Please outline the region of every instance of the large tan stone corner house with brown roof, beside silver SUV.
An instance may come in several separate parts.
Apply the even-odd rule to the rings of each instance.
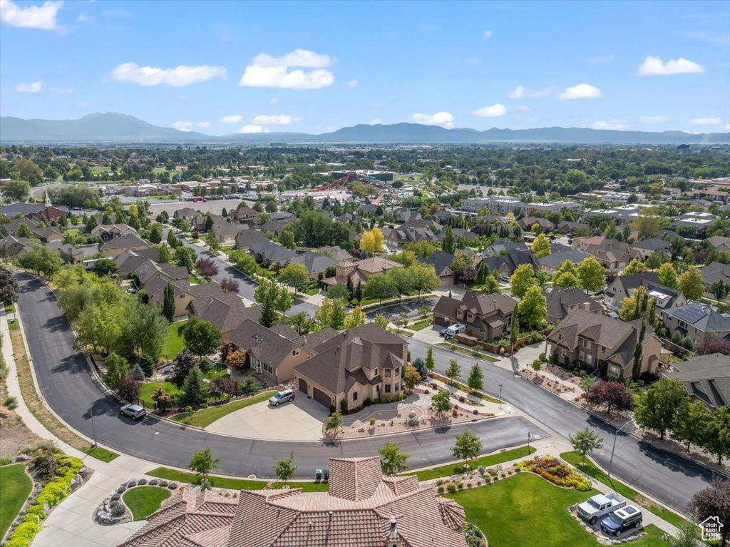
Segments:
[[[366,400],[395,399],[404,389],[408,345],[374,323],[346,330],[314,349],[315,356],[294,367],[294,388],[326,408],[353,410]]]

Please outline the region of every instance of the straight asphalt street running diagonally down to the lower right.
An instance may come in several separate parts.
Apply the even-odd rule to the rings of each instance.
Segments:
[[[412,359],[425,358],[426,343],[404,337],[409,345]],[[615,429],[603,421],[593,418],[572,403],[557,397],[550,391],[537,386],[531,380],[515,376],[509,370],[493,366],[483,360],[453,353],[438,346],[434,348],[437,372],[444,373],[450,359],[461,364],[461,380],[466,381],[469,369],[480,362],[484,373],[485,391],[499,396],[499,384],[503,384],[502,399],[522,410],[562,437],[573,435],[585,426],[590,426],[604,439],[603,448],[591,454],[604,468],[609,466],[611,446]],[[519,356],[519,353],[517,354]],[[517,359],[512,358],[513,370]],[[637,440],[631,435],[619,434],[613,457],[612,475],[629,483],[672,508],[685,511],[692,495],[712,485],[713,473],[706,467],[694,464],[680,456],[654,448],[649,443]]]

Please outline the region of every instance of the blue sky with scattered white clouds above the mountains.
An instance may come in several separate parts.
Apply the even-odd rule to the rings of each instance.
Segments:
[[[0,0],[0,112],[728,131],[727,1]]]

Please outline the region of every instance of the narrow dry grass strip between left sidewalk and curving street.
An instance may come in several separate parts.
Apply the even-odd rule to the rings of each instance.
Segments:
[[[104,449],[96,448],[85,440],[84,438],[76,435],[66,425],[55,417],[48,408],[43,404],[36,386],[33,382],[33,375],[31,372],[31,364],[28,362],[28,355],[26,354],[26,346],[23,344],[23,334],[20,329],[10,331],[10,341],[12,342],[12,354],[15,358],[15,369],[18,371],[18,383],[20,384],[20,394],[23,395],[23,400],[26,402],[26,406],[30,413],[48,430],[54,437],[64,441],[69,445],[72,445],[77,450],[82,451],[84,454],[91,454],[95,458],[101,459],[103,462],[111,462],[119,454],[110,452]]]

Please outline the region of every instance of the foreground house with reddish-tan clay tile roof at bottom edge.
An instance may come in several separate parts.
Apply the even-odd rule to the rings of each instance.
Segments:
[[[329,489],[181,489],[119,547],[467,547],[464,508],[377,456],[329,459]]]

